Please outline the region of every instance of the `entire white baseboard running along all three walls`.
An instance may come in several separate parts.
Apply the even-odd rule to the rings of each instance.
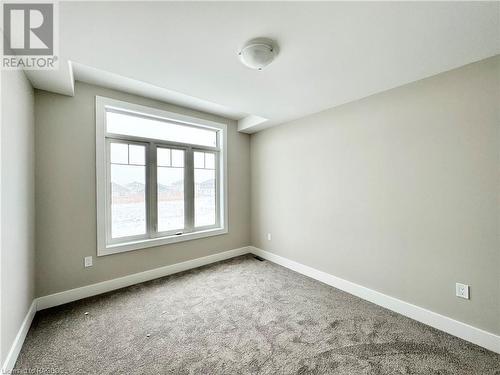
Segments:
[[[7,354],[5,362],[2,365],[1,371],[2,373],[10,373],[14,368],[17,357],[19,356],[24,340],[31,326],[31,322],[33,321],[36,311],[38,310],[47,309],[49,307],[54,307],[82,298],[106,293],[115,289],[124,288],[144,281],[168,276],[177,272],[201,267],[210,263],[247,254],[249,252],[255,255],[259,255],[262,258],[265,258],[283,267],[289,268],[295,272],[321,281],[327,285],[355,295],[359,298],[370,301],[379,306],[395,311],[399,314],[405,315],[411,319],[417,320],[431,327],[447,332],[451,335],[460,337],[461,339],[472,342],[496,353],[500,353],[500,336],[498,335],[486,332],[482,329],[448,318],[446,316],[429,311],[411,303],[401,301],[397,298],[390,297],[364,286],[330,275],[326,272],[319,271],[315,268],[303,265],[280,255],[270,253],[254,246],[248,246],[36,298],[35,300],[33,300],[26,314],[26,317],[24,318],[23,323],[19,328],[16,338],[14,339],[9,353]]]

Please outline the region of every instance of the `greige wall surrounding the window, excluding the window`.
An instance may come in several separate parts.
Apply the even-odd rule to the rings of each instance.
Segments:
[[[96,257],[95,96],[228,126],[229,233]],[[77,82],[74,97],[35,91],[36,295],[43,296],[250,243],[250,137],[234,121]],[[94,266],[83,258],[94,256]]]

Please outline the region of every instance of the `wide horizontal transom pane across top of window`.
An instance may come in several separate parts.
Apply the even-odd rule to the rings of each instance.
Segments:
[[[106,112],[108,133],[156,138],[165,141],[217,146],[217,131],[188,125],[178,125],[154,118]]]

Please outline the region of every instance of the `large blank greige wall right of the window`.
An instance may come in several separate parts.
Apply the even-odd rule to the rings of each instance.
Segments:
[[[499,100],[496,57],[252,135],[252,244],[500,334]]]

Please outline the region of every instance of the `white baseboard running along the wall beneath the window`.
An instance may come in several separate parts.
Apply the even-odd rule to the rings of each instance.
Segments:
[[[142,283],[144,281],[149,281],[157,279],[159,277],[168,276],[177,272],[204,266],[206,264],[219,262],[221,260],[247,254],[248,252],[249,252],[248,247],[246,246],[240,247],[238,249],[233,249],[213,255],[208,255],[202,258],[191,259],[185,262],[175,263],[169,266],[155,268],[149,271],[134,273],[132,275],[119,277],[117,279],[106,280],[100,283],[82,286],[80,288],[65,290],[64,292],[59,292],[39,297],[37,301],[37,307],[38,310],[48,309],[49,307],[62,305],[82,298],[92,297],[98,294],[110,292],[115,289],[124,288],[130,285]]]

